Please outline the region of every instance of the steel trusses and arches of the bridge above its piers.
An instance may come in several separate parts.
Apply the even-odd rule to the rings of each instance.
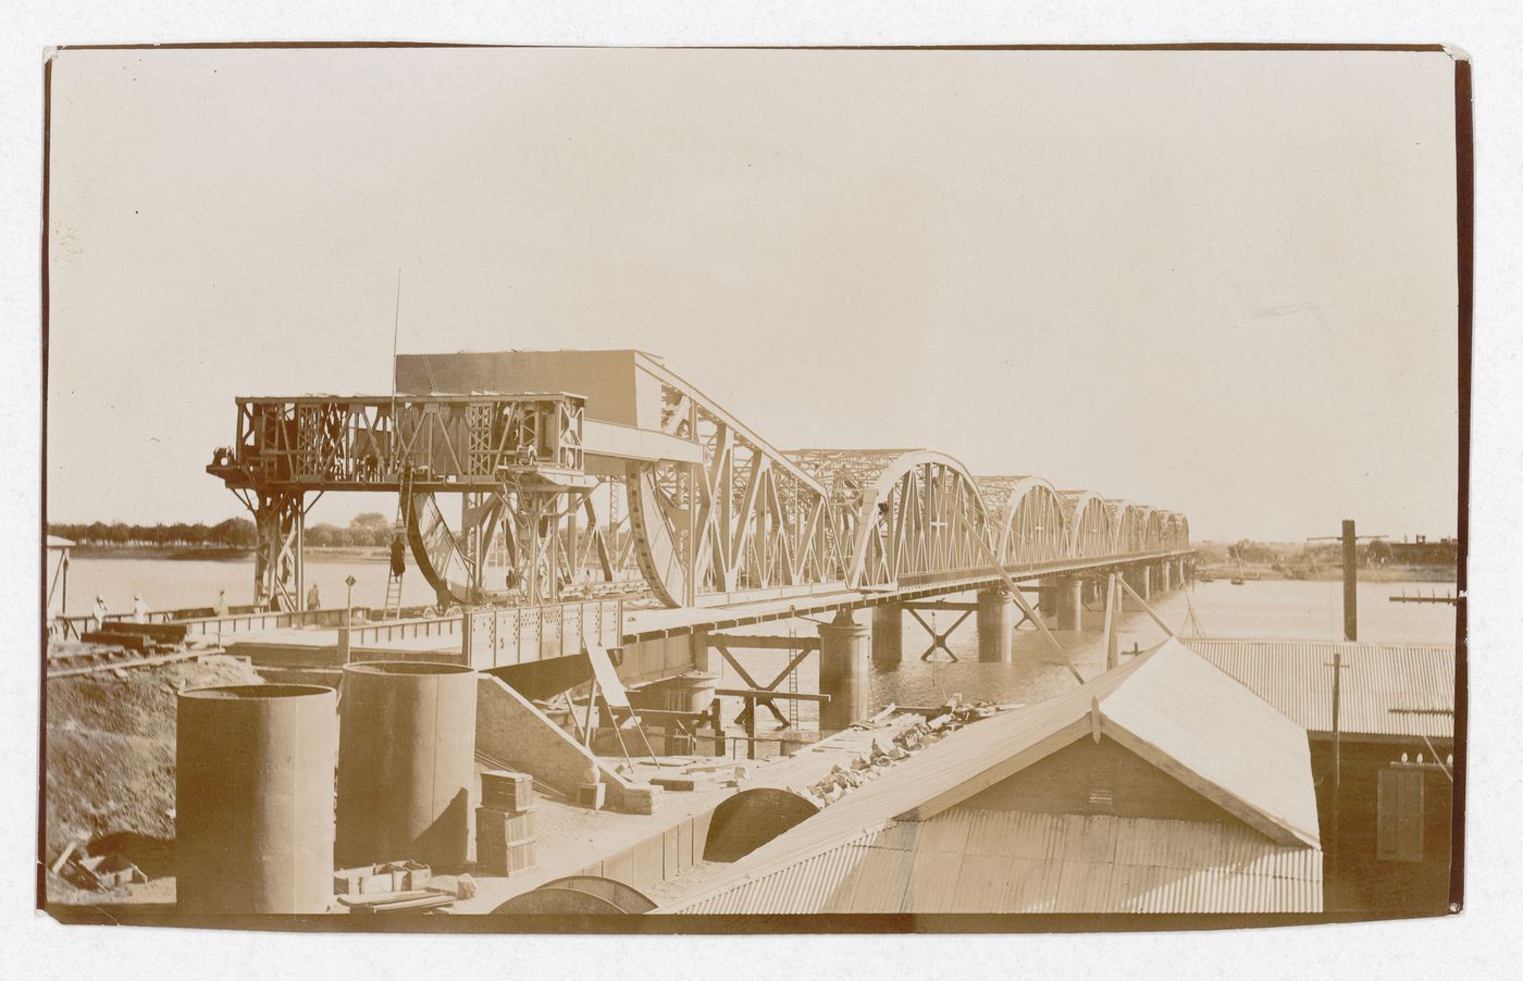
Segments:
[[[1191,554],[1182,513],[944,452],[780,451],[637,350],[402,355],[396,378],[236,399],[207,471],[254,515],[256,603],[302,609],[305,518],[330,490],[398,495],[442,606],[924,594]]]

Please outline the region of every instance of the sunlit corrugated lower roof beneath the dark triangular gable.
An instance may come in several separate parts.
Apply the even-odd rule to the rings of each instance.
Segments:
[[[1240,824],[952,807],[658,912],[1320,912],[1322,853]]]

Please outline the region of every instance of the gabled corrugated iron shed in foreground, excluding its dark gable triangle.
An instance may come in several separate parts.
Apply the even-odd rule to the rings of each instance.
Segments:
[[[959,804],[1095,733],[1237,823]],[[1304,731],[1177,641],[985,719],[780,835],[664,912],[1314,912]]]

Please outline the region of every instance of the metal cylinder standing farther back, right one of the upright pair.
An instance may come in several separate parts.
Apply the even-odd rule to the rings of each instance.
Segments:
[[[477,673],[458,664],[344,667],[338,861],[461,865],[471,841]]]

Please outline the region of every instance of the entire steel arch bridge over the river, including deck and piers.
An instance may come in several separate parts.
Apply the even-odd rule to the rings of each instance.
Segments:
[[[868,658],[902,657],[905,612],[975,615],[979,660],[1008,661],[1019,625],[1058,646],[1048,618],[1075,629],[1086,605],[1145,602],[1193,562],[1173,510],[975,475],[924,448],[777,449],[638,350],[401,355],[394,373],[394,395],[238,398],[207,471],[254,515],[254,599],[282,626],[311,612],[303,524],[329,492],[396,497],[398,539],[439,608],[267,629],[270,653],[545,678],[592,644],[638,685],[702,672],[714,650],[734,663],[731,647],[793,643],[821,652],[829,731],[868,708]],[[803,615],[830,622],[818,638],[723,634]]]

